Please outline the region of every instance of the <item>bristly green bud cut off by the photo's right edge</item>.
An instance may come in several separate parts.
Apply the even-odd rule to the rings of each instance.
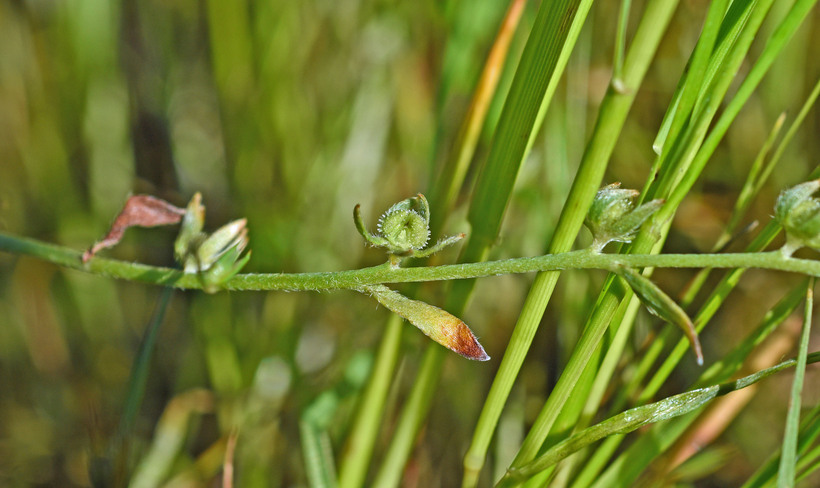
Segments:
[[[775,218],[786,231],[786,244],[780,249],[791,256],[801,247],[820,250],[820,201],[813,198],[820,180],[807,181],[784,190],[774,206]]]

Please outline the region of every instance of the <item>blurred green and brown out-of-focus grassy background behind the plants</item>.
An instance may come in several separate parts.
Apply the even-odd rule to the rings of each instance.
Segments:
[[[519,174],[493,257],[539,254],[548,242],[611,73],[617,2],[598,3],[543,136]],[[706,3],[682,2],[608,181],[643,185],[652,140]],[[785,11],[788,3],[774,8]],[[383,255],[356,234],[353,206],[362,205],[374,228],[391,203],[429,188],[506,7],[500,1],[2,1],[0,229],[84,249],[105,233],[129,194],[184,205],[200,191],[209,228],[248,218],[253,256],[246,271],[377,264]],[[479,161],[534,9],[527,7],[513,42]],[[711,247],[760,141],[780,112],[799,109],[820,73],[818,22],[815,11],[744,109],[715,156],[720,164],[681,208],[670,251]],[[767,221],[779,189],[802,181],[816,164],[810,155],[820,154],[818,133],[815,110],[760,198],[756,218]],[[462,193],[468,192],[469,184]],[[465,210],[459,206],[451,216],[448,234],[469,231]],[[105,254],[170,266],[174,237],[174,229],[131,230]],[[689,277],[658,275],[673,294]],[[602,279],[580,272],[562,279],[544,319],[557,325],[536,338],[511,415],[526,422],[537,413]],[[453,486],[460,479],[461,456],[530,280],[479,282],[464,319],[494,360],[448,358],[407,486]],[[704,338],[706,350],[727,349],[772,305],[778,296],[772,290],[794,282],[749,273],[742,301],[730,301],[720,329]],[[422,296],[440,303],[445,287],[425,286]],[[94,473],[115,469],[110,446],[160,293],[0,255],[0,485],[89,486],[89,465]],[[298,420],[318,412],[334,450],[341,450],[386,317],[352,292],[175,292],[128,463],[141,466],[157,452],[151,443],[158,434],[175,432],[177,449],[168,451],[162,479],[214,486],[235,431],[238,486],[305,485]],[[635,338],[636,347],[641,341]],[[404,343],[380,445],[427,340],[407,327]],[[669,391],[690,380],[677,378]],[[816,385],[817,375],[808,381]],[[739,453],[731,464],[739,476],[765,459],[782,433],[780,400],[788,382],[762,388],[776,390],[769,396],[778,401],[753,402],[751,415],[771,418],[772,430],[750,439],[741,417],[722,440]],[[816,402],[817,391],[807,388],[806,401]],[[520,436],[502,423],[494,451],[499,466]]]

